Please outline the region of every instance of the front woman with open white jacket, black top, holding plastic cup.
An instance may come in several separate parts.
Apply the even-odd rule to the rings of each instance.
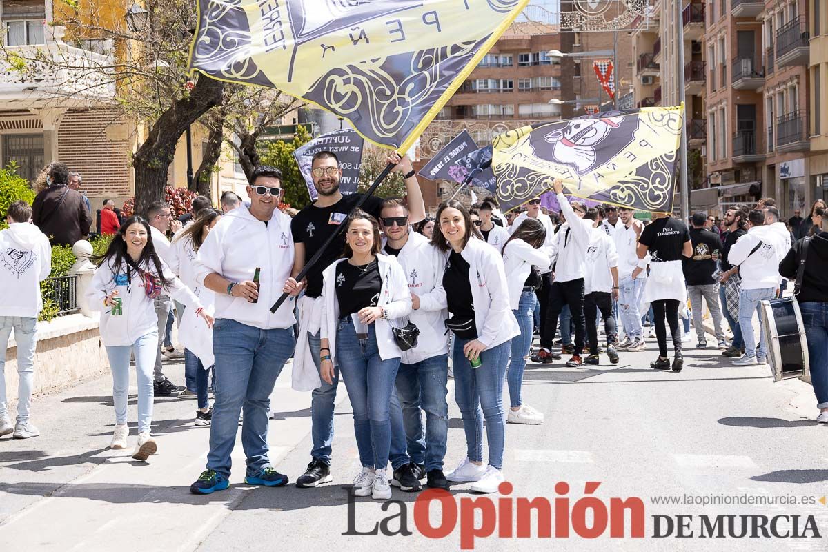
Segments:
[[[339,367],[354,409],[363,466],[354,479],[354,495],[388,500],[389,404],[402,357],[391,320],[411,312],[412,298],[397,259],[379,254],[377,221],[357,209],[345,224],[345,258],[322,275],[320,375],[330,384]]]

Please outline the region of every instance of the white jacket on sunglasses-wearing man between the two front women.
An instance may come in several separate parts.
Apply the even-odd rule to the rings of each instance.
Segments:
[[[503,228],[501,228],[503,229]],[[508,234],[507,234],[508,235]],[[387,240],[383,240],[383,247]],[[445,255],[421,233],[409,229],[408,240],[397,255],[405,273],[408,290],[420,298],[420,308],[408,318],[420,329],[417,346],[402,352],[403,364],[416,364],[449,352],[445,334],[445,290],[442,288]]]

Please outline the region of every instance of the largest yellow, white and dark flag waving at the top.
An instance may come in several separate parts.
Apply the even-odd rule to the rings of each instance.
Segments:
[[[406,151],[529,0],[198,0],[190,69]]]

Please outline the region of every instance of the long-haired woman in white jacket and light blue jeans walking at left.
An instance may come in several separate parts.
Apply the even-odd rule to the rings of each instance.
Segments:
[[[115,431],[109,447],[127,447],[129,358],[133,353],[138,384],[138,442],[132,458],[143,461],[155,454],[157,448],[150,435],[152,370],[158,349],[158,317],[153,297],[163,288],[174,299],[197,309],[208,326],[213,324],[213,319],[201,310],[192,291],[158,258],[149,223],[142,217],[124,221],[107,251],[92,260],[98,269],[86,291],[86,299],[91,309],[102,311],[101,340],[113,375]]]

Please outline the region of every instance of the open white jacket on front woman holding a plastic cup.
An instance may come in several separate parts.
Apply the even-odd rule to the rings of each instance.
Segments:
[[[488,247],[488,246],[487,246]],[[322,272],[322,326],[320,338],[328,340],[330,358],[334,366],[339,366],[336,358],[336,329],[339,325],[339,300],[336,297],[336,266],[340,262],[348,262],[348,259],[330,263],[330,266]],[[383,285],[379,290],[379,301],[377,306],[388,311],[388,319],[402,319],[412,311],[412,296],[408,292],[406,274],[397,259],[390,255],[377,255],[379,277]],[[392,325],[388,319],[378,319],[375,324],[377,334],[377,348],[379,358],[402,358],[402,351],[394,342]]]

